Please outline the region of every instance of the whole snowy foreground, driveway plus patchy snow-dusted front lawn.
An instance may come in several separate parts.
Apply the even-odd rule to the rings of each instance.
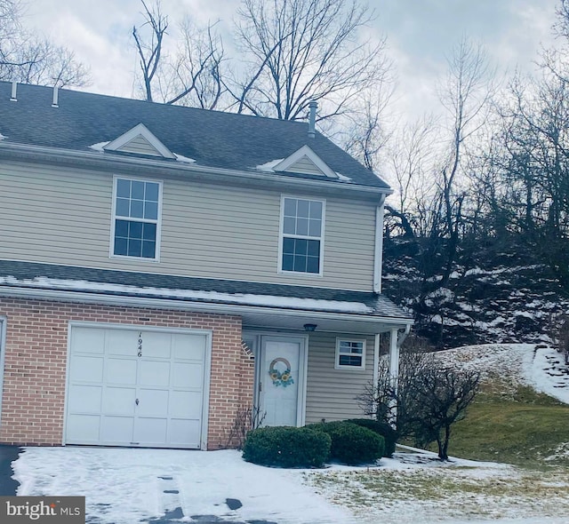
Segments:
[[[93,524],[148,522],[175,507],[188,522],[196,515],[277,524],[569,519],[565,474],[459,459],[441,463],[429,453],[396,453],[375,467],[284,470],[245,463],[233,450],[28,448],[14,470],[20,496],[85,496]],[[243,507],[229,510],[227,498]]]

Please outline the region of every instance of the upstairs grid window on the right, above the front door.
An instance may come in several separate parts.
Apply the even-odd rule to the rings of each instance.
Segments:
[[[279,270],[322,274],[325,201],[284,196]]]

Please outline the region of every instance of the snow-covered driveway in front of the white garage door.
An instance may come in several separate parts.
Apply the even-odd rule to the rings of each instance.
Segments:
[[[28,448],[13,464],[19,496],[85,496],[87,516],[100,524],[135,524],[176,507],[228,521],[353,521],[304,486],[301,470],[249,464],[233,450]],[[243,507],[229,510],[227,498]]]

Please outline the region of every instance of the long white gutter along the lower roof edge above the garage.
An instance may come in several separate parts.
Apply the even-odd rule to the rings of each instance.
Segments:
[[[184,311],[195,311],[214,314],[268,314],[296,317],[317,317],[332,321],[351,321],[365,323],[381,323],[389,328],[401,329],[404,324],[409,324],[409,319],[397,319],[394,317],[373,316],[354,313],[332,313],[327,311],[309,311],[300,309],[287,309],[272,306],[244,306],[193,302],[188,300],[176,300],[172,298],[147,298],[147,297],[125,297],[119,295],[105,295],[101,293],[88,293],[84,291],[68,290],[35,290],[18,287],[0,286],[0,297],[12,298],[36,298],[45,300],[60,300],[64,302],[83,302],[86,304],[100,304],[105,306],[131,306],[131,307],[152,307],[155,309],[174,309]]]

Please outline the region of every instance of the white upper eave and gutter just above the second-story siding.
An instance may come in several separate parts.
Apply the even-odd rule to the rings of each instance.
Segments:
[[[248,187],[302,189],[320,195],[351,195],[354,198],[377,201],[393,190],[389,187],[362,186],[332,179],[307,179],[284,176],[282,173],[239,171],[213,168],[198,163],[181,163],[175,160],[155,160],[128,155],[105,155],[95,151],[74,151],[56,147],[28,146],[0,142],[0,156],[7,160],[44,163],[59,167],[83,167],[95,171],[120,172],[124,174],[156,174],[172,178],[196,179],[208,183],[235,183]]]

